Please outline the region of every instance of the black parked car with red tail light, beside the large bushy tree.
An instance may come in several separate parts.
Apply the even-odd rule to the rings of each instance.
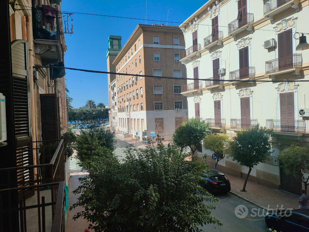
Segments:
[[[230,192],[231,191],[231,183],[228,177],[221,171],[216,169],[211,169],[211,173],[209,174],[206,183],[200,182],[200,186],[205,188],[210,193],[221,193],[221,192]]]

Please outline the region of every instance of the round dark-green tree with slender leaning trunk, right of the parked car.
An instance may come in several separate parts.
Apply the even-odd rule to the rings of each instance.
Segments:
[[[253,166],[264,161],[272,154],[272,136],[272,130],[260,127],[259,124],[257,124],[251,129],[241,130],[231,141],[229,153],[232,159],[243,166],[249,167],[241,191],[244,192],[246,189],[247,180]]]

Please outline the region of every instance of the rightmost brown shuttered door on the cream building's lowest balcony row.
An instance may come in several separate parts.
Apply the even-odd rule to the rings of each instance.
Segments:
[[[280,93],[280,119],[282,132],[295,131],[294,92]]]

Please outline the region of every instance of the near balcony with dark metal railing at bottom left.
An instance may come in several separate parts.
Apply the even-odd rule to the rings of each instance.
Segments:
[[[19,225],[20,231],[37,226],[63,232],[65,227],[65,155],[63,140],[39,141],[40,164],[0,169],[0,199],[16,196],[17,207],[0,206],[0,231]],[[17,174],[17,182],[12,177]],[[35,193],[36,192],[36,193]],[[9,201],[9,200],[8,200]],[[10,201],[13,202],[13,201]],[[6,220],[7,219],[7,220]],[[34,224],[36,222],[36,225]],[[4,226],[3,226],[4,225]]]

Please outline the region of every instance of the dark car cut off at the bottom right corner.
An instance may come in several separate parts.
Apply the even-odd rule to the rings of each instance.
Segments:
[[[268,228],[280,232],[309,232],[309,209],[288,210],[279,214],[268,213],[265,222]]]

